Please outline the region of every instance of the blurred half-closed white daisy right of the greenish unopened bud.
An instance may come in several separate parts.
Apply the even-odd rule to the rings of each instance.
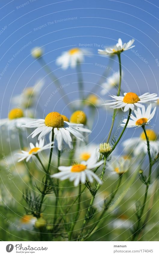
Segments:
[[[112,156],[111,160],[106,163],[106,169],[114,171],[117,174],[123,174],[130,168],[130,159],[124,156]]]

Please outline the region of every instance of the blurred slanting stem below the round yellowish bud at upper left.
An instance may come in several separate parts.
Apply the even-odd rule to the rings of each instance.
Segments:
[[[38,62],[40,63],[40,65],[44,69],[44,71],[49,75],[50,79],[57,86],[58,91],[59,91],[59,93],[61,95],[61,98],[63,99],[63,101],[66,104],[66,106],[68,106],[70,108],[70,110],[71,110],[71,106],[69,105],[70,100],[69,100],[67,94],[63,93],[64,92],[64,88],[61,88],[61,84],[60,84],[58,78],[55,76],[53,71],[50,69],[50,67],[47,65],[47,63],[44,61],[43,57],[38,58]]]

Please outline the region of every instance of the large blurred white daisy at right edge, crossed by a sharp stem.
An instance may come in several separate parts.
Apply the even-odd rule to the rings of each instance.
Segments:
[[[149,138],[151,155],[157,154],[159,152],[159,140],[157,140],[157,134],[151,129],[147,129],[146,134],[147,137]],[[135,156],[138,156],[142,152],[147,154],[147,141],[145,133],[142,132],[140,137],[133,137],[127,139],[126,141],[124,141],[123,147],[126,151],[133,151],[133,154]]]

